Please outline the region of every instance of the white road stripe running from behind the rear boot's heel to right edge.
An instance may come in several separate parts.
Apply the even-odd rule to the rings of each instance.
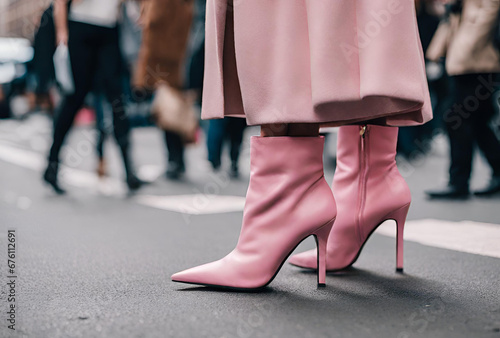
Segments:
[[[395,223],[385,222],[376,233],[395,237]],[[500,225],[498,224],[436,219],[408,221],[405,225],[404,239],[443,249],[500,258]]]

